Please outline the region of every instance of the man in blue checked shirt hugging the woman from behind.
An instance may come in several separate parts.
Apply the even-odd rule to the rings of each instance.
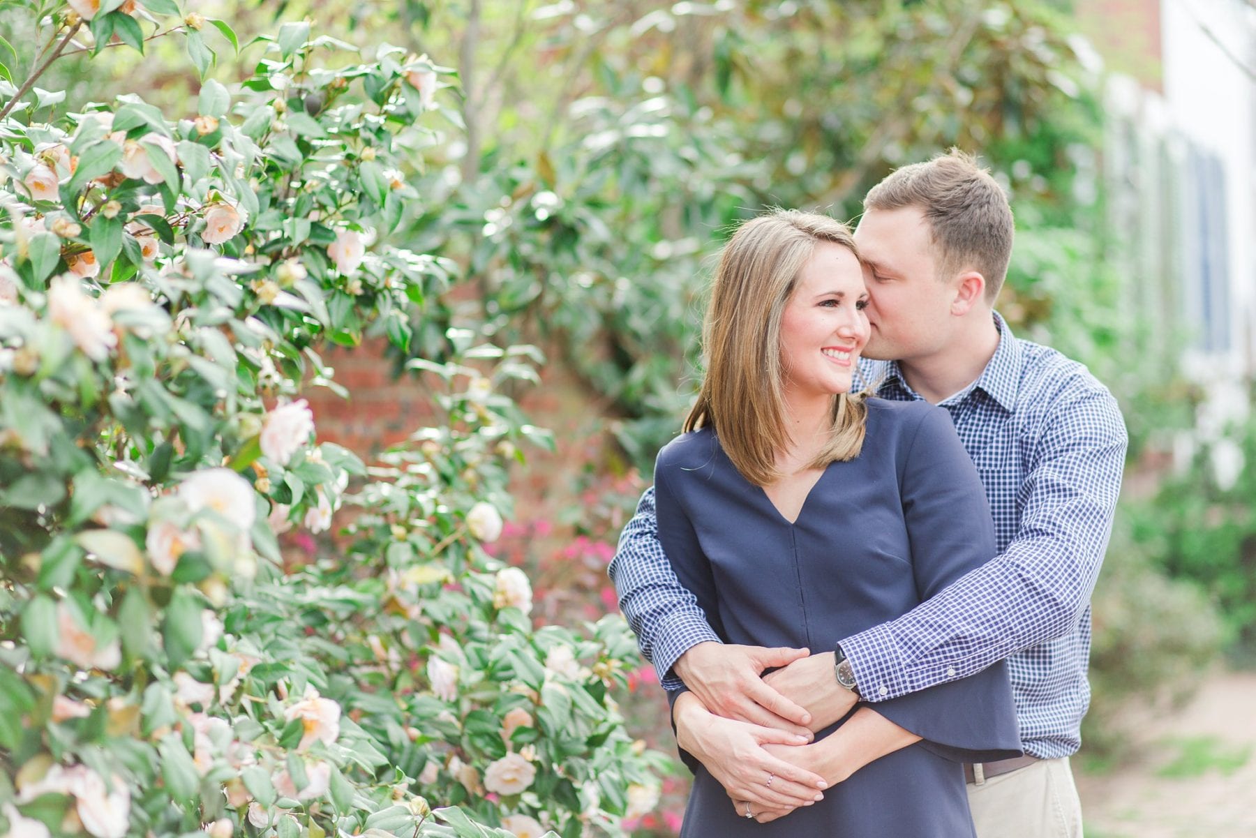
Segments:
[[[620,607],[664,687],[683,685],[712,712],[772,727],[818,729],[857,701],[875,707],[1007,658],[1026,756],[967,768],[977,834],[1081,838],[1068,758],[1089,704],[1089,601],[1120,490],[1120,411],[1083,366],[1017,339],[995,313],[1012,215],[971,157],[901,168],[864,210],[864,354],[883,359],[863,362],[864,378],[884,398],[947,408],[985,485],[999,555],[815,655],[725,646],[676,580],[647,490],[610,565]],[[762,678],[772,667],[782,668]]]

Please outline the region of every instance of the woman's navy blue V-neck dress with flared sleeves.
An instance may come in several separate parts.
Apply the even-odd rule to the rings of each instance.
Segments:
[[[728,643],[830,650],[996,552],[977,471],[950,415],[926,402],[868,400],[863,452],[825,469],[794,524],[711,428],[659,452],[654,491],[663,549]],[[1020,754],[1005,665],[873,707],[922,740],[766,824],[739,817],[682,751],[695,771],[682,838],[973,837],[962,763]]]

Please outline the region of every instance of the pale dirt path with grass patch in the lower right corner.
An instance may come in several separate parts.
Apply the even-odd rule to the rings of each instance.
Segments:
[[[1256,672],[1210,678],[1134,753],[1108,774],[1079,771],[1086,838],[1256,838]]]

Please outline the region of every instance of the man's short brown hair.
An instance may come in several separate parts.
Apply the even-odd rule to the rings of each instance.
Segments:
[[[927,163],[894,170],[864,199],[864,210],[908,206],[919,207],[929,222],[938,279],[976,270],[986,278],[986,299],[993,303],[1007,276],[1015,224],[990,171],[952,148]]]

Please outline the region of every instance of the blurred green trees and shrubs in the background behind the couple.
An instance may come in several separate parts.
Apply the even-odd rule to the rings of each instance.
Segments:
[[[1132,436],[1095,594],[1088,741],[1113,746],[1128,701],[1181,697],[1223,647],[1256,647],[1256,477],[1222,487],[1210,445],[1169,467],[1205,393],[1172,373],[1171,340],[1128,314],[1129,265],[1104,221],[1100,67],[1071,0],[201,5],[240,35],[241,60],[221,52],[212,73],[225,83],[252,70],[254,35],[305,16],[359,46],[386,34],[455,72],[437,98],[445,141],[414,155],[421,197],[392,239],[450,260],[452,320],[545,347],[605,417],[613,443],[584,446],[585,480],[555,513],[585,543],[613,543],[642,485],[634,470],[648,475],[678,430],[708,259],[730,225],[767,205],[852,219],[894,166],[980,152],[1017,217],[1000,309],[1021,337],[1089,364]],[[31,60],[23,33],[5,36]],[[134,90],[176,116],[197,89],[176,49],[117,50],[90,80],[67,62],[46,80],[70,108]],[[440,340],[421,337],[448,323],[413,325],[409,356],[440,361]],[[409,356],[396,356],[398,374]],[[1252,461],[1256,431],[1231,436]],[[590,498],[595,514],[571,511]],[[570,572],[570,554],[538,555],[534,535],[524,526],[516,560],[548,567],[560,602],[604,593],[597,574]]]

